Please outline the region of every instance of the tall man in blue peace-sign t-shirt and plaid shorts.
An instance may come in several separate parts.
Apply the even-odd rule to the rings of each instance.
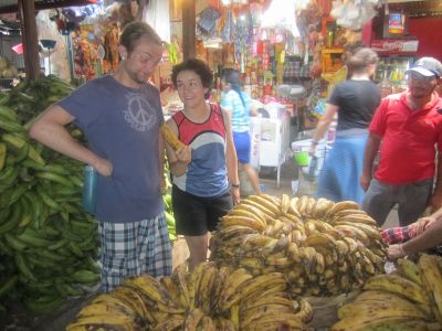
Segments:
[[[148,24],[133,22],[118,50],[122,62],[113,75],[81,86],[30,129],[32,138],[99,174],[95,216],[106,292],[128,276],[171,274],[161,197],[164,117],[159,93],[147,83],[161,60],[162,42]],[[88,148],[65,129],[72,121],[86,135]]]

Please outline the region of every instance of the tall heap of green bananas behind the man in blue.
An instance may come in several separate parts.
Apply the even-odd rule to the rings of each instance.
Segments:
[[[49,88],[51,103],[61,85]],[[49,312],[98,281],[97,224],[81,207],[83,166],[31,141],[28,113],[6,106],[22,89],[0,99],[0,258],[13,266],[0,274],[0,303]]]

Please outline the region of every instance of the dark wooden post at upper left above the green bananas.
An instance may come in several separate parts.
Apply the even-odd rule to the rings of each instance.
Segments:
[[[35,81],[41,73],[34,0],[19,0],[18,4],[27,79]]]

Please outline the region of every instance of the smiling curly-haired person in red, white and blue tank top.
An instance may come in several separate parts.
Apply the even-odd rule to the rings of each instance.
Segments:
[[[212,72],[200,60],[188,60],[172,70],[185,108],[167,125],[186,147],[166,148],[177,233],[185,235],[189,247],[189,270],[207,260],[209,232],[240,201],[231,124],[218,105],[206,100],[212,81]]]

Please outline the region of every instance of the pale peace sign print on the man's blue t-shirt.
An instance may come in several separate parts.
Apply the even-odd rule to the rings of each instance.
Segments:
[[[157,113],[141,93],[128,93],[125,120],[137,131],[147,131],[157,122]]]

